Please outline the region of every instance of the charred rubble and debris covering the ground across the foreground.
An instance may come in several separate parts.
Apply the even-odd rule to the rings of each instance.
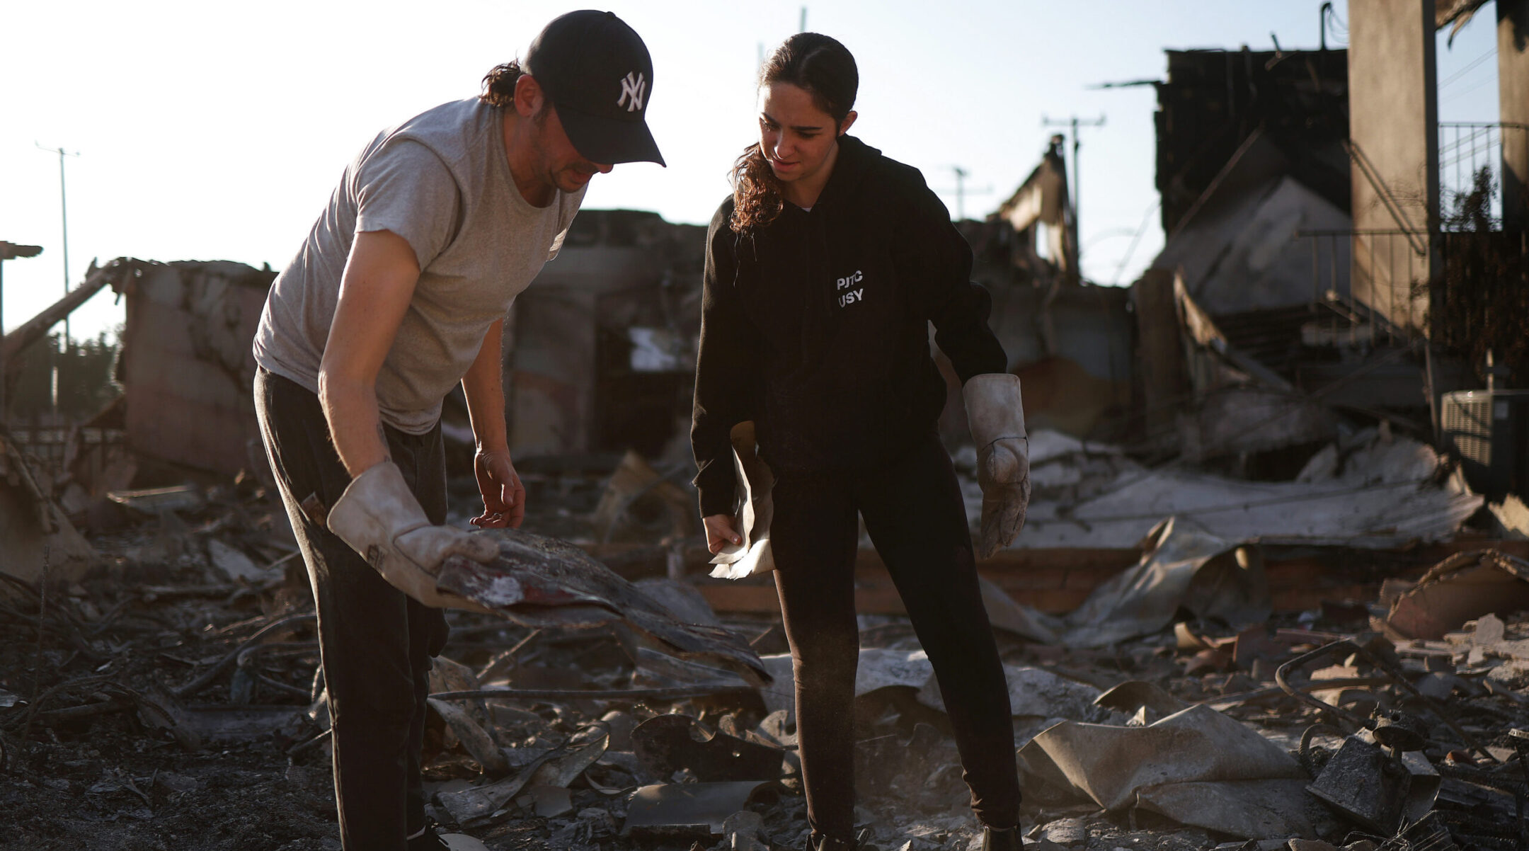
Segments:
[[[596,508],[625,487],[613,473],[543,467],[528,525],[579,546],[494,533],[494,588],[457,586],[502,611],[450,614],[430,813],[491,848],[798,848],[777,617],[708,602],[772,591],[705,579],[693,548],[671,574],[671,546],[601,543]],[[280,505],[252,478],[107,502],[118,522],[92,531],[92,571],[0,580],[12,831],[43,846],[336,846],[313,609]],[[648,491],[630,510],[664,505]],[[1427,563],[1430,549],[1372,553],[1306,606],[1272,603],[1300,563],[1290,548],[1174,520],[1141,545],[1072,612],[1031,606],[1046,598],[1001,559],[983,568],[1031,843],[1515,846],[1529,750],[1518,543]],[[1368,595],[1344,594],[1356,588]],[[898,614],[861,615],[861,646],[862,846],[968,848],[980,828],[928,658]]]

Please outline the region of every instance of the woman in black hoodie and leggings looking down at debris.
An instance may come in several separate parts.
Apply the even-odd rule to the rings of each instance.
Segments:
[[[856,513],[934,664],[983,848],[1018,848],[1008,686],[936,432],[946,392],[928,323],[963,381],[985,554],[1014,539],[1029,497],[1018,378],[945,207],[916,168],[846,135],[858,83],[850,52],[812,32],[760,70],[760,141],[706,237],[691,427],[706,540],[740,542],[729,432],[754,421],[775,474],[769,536],[812,851],[853,848]]]

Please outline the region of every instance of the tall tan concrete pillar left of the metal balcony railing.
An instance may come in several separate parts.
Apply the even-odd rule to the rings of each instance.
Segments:
[[[1423,329],[1439,210],[1434,0],[1349,2],[1349,138],[1353,145],[1353,295]],[[1373,234],[1364,231],[1407,231]],[[1372,263],[1398,248],[1417,262]],[[1417,280],[1422,279],[1422,280]]]

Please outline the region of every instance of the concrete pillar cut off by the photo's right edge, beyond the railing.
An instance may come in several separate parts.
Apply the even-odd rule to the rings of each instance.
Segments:
[[[1497,92],[1503,122],[1503,227],[1524,230],[1529,227],[1529,0],[1497,0]]]

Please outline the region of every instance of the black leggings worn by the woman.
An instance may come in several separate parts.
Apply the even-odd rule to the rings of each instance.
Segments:
[[[775,588],[797,675],[812,828],[850,839],[855,823],[856,511],[934,664],[972,810],[985,825],[1012,827],[1020,785],[1009,689],[982,606],[960,485],[939,439],[930,435],[870,473],[781,474],[774,500]]]

